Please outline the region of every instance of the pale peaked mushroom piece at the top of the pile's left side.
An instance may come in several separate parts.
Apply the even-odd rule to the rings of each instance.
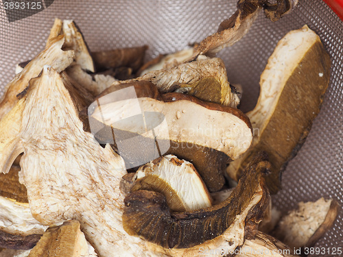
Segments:
[[[94,64],[91,54],[88,51],[86,41],[82,36],[80,29],[74,21],[55,19],[53,27],[51,27],[47,45],[51,43],[56,36],[63,35],[65,42],[63,45],[64,50],[73,50],[75,53],[75,62],[79,64],[82,69],[94,72]]]

